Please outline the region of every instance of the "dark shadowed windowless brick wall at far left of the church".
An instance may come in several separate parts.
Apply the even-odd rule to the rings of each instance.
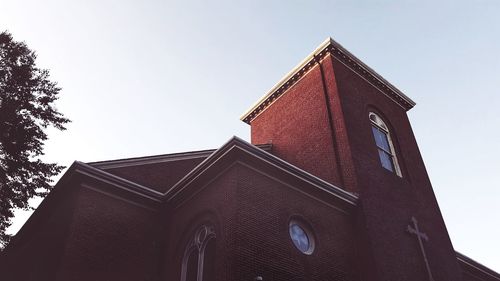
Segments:
[[[9,245],[1,280],[157,280],[155,212],[78,176],[56,189]]]

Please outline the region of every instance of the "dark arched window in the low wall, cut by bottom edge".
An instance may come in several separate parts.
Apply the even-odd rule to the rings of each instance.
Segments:
[[[215,280],[215,230],[202,225],[189,240],[182,258],[181,281]]]

